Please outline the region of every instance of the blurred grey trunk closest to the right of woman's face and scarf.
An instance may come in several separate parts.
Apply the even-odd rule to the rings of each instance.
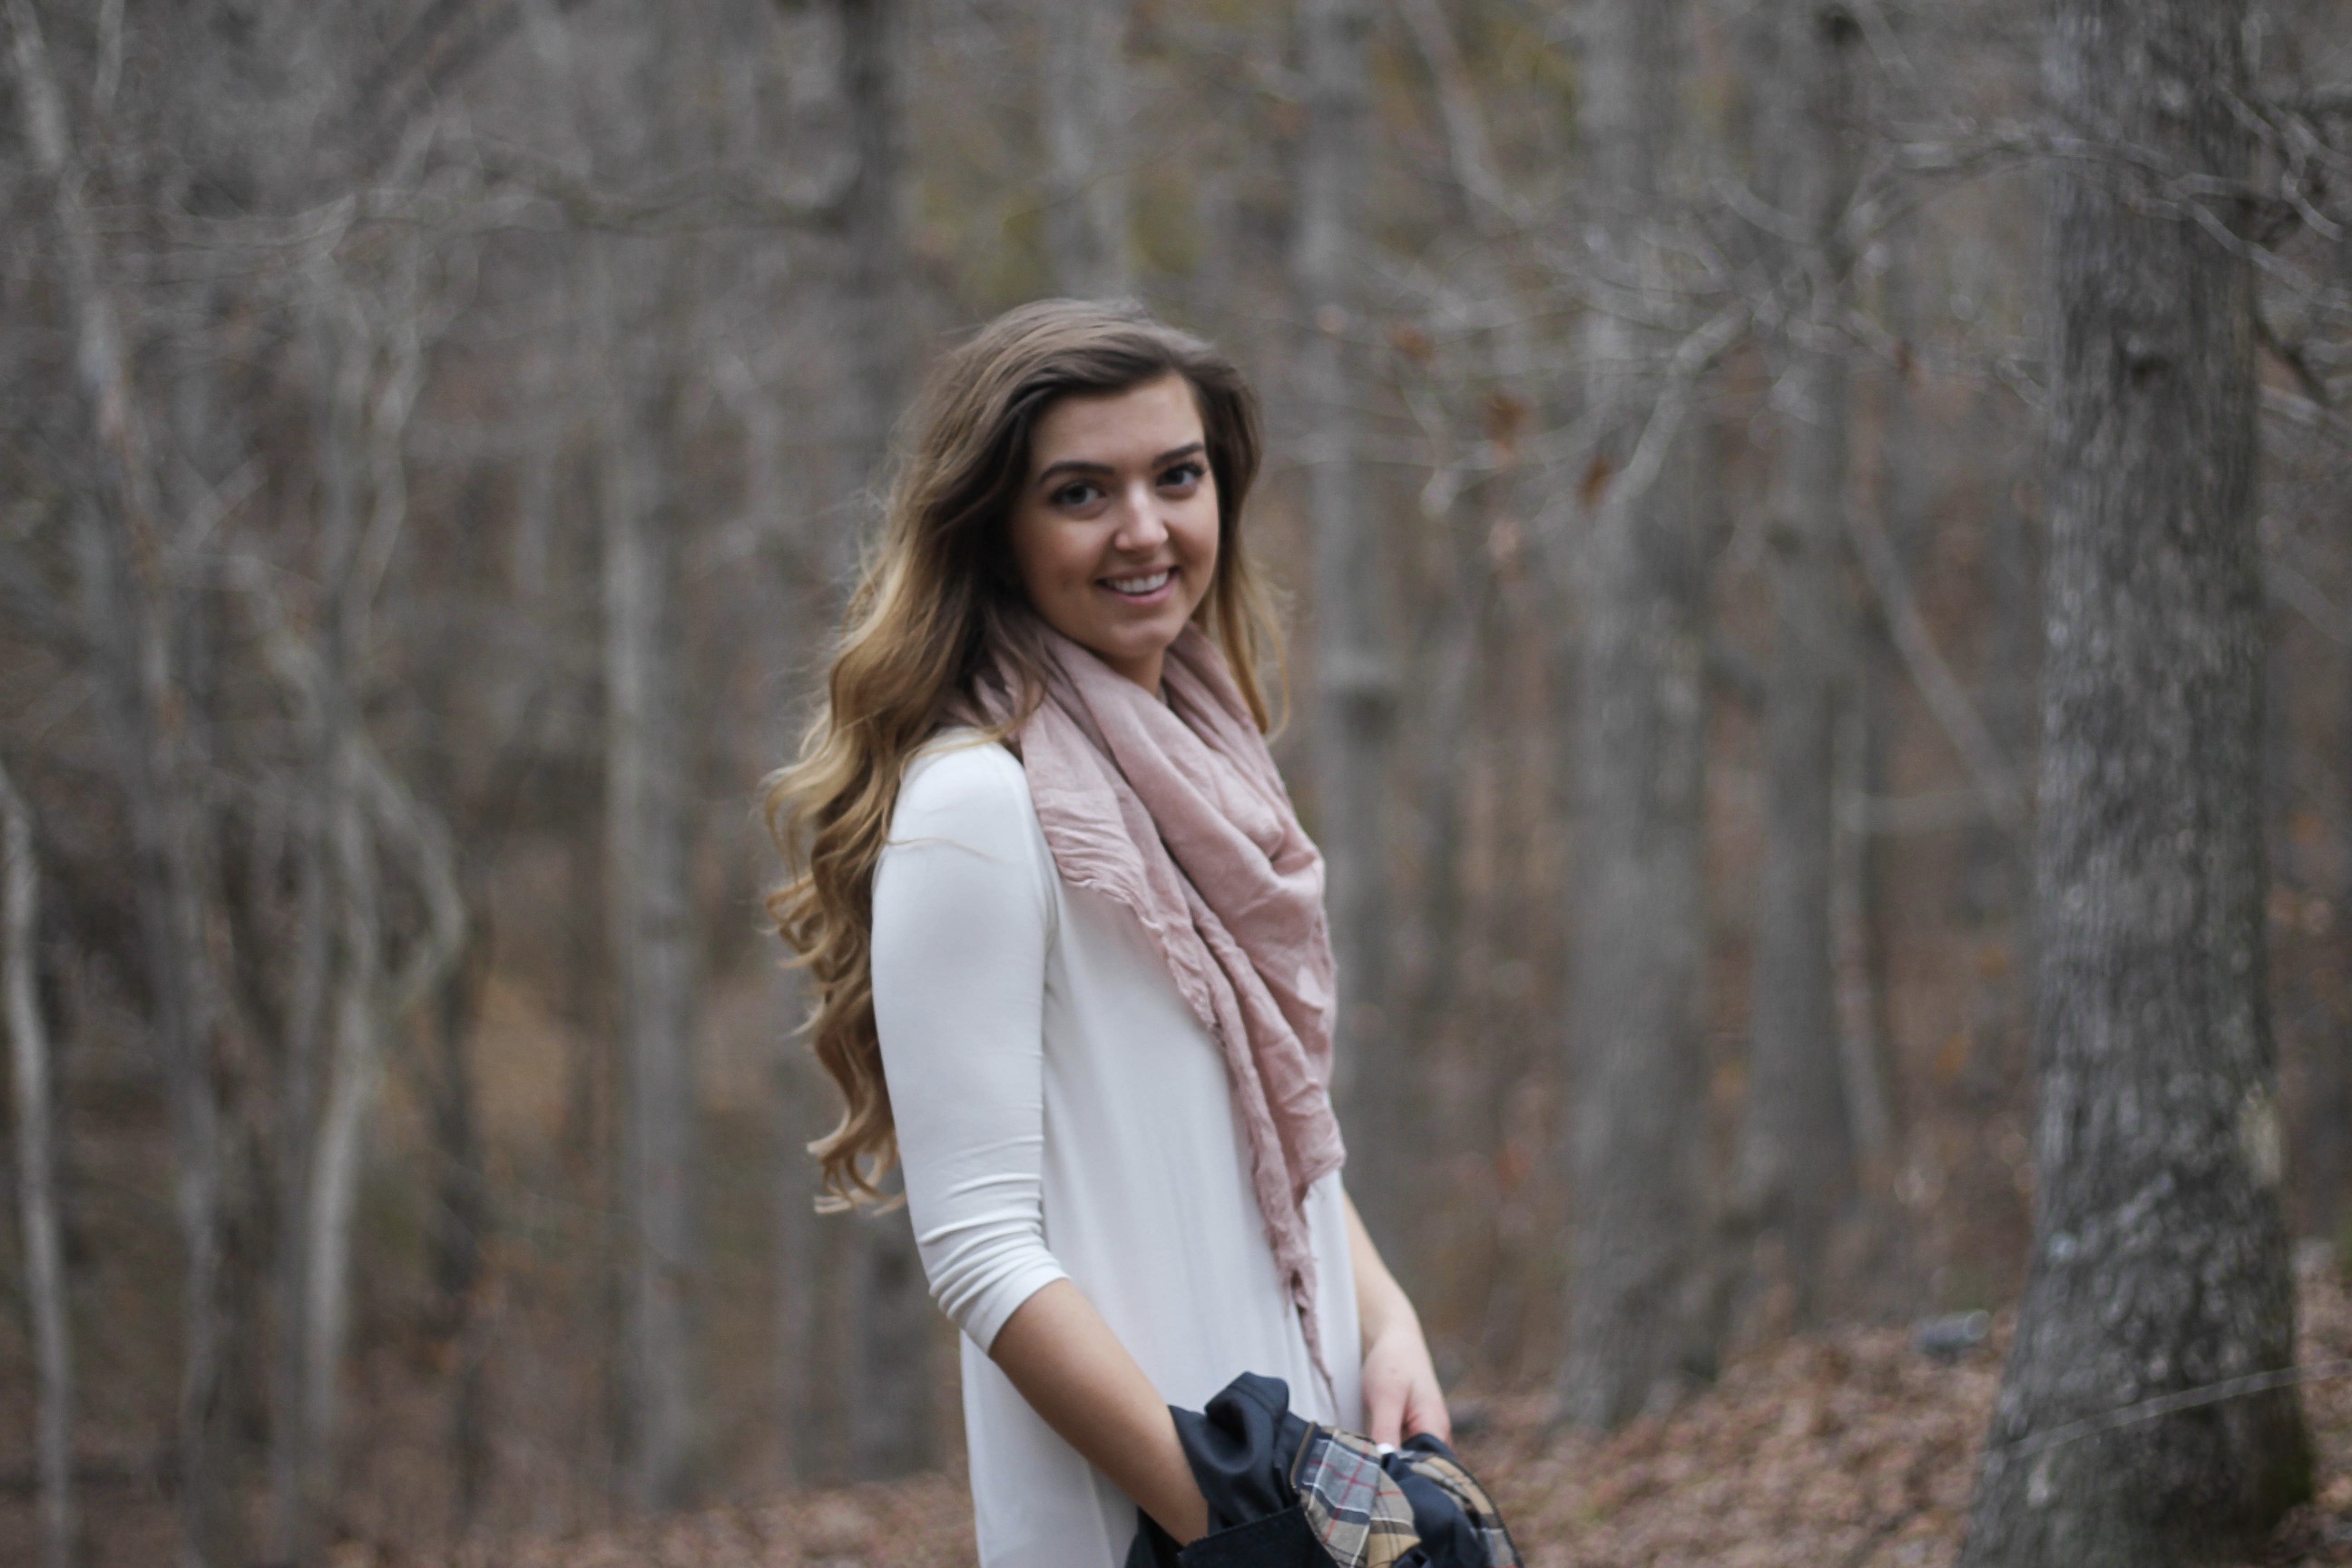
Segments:
[[[1364,0],[1303,0],[1298,66],[1305,134],[1296,172],[1291,268],[1305,341],[1298,346],[1308,524],[1315,541],[1315,839],[1338,959],[1338,1119],[1359,1154],[1348,1173],[1364,1222],[1395,1241],[1404,1222],[1397,1178],[1414,1088],[1388,1018],[1388,863],[1381,809],[1397,672],[1388,646],[1378,520],[1364,496],[1357,407],[1364,402],[1352,334],[1359,207],[1371,134]]]

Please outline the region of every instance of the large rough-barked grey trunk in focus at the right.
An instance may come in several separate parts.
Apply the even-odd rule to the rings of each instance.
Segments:
[[[2034,1255],[1962,1563],[2164,1568],[2310,1490],[2265,992],[2244,0],[2060,0]],[[2270,1382],[2274,1382],[2272,1378]],[[2150,1403],[2161,1401],[2161,1403]]]

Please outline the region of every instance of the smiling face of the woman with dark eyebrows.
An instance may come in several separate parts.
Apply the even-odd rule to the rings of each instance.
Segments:
[[[1157,693],[1160,656],[1216,574],[1216,477],[1190,383],[1047,404],[1011,550],[1047,625]]]

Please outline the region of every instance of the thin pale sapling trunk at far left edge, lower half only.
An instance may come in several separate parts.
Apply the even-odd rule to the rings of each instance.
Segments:
[[[33,813],[0,769],[0,1006],[7,1011],[16,1093],[16,1206],[24,1293],[33,1316],[33,1467],[40,1474],[40,1561],[71,1568],[73,1321],[66,1248],[56,1225],[56,1131],[49,1124],[49,1027],[40,1016],[40,865]]]

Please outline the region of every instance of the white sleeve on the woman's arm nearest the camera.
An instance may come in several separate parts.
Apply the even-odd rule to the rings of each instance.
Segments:
[[[983,1352],[1068,1276],[1044,1244],[1051,877],[1004,748],[908,766],[875,870],[875,1027],[931,1298]]]

